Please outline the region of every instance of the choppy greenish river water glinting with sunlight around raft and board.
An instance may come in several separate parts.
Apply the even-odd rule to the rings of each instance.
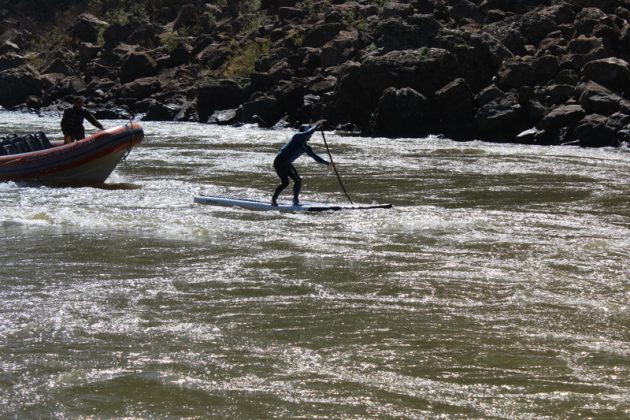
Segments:
[[[268,199],[289,131],[143,126],[102,188],[0,184],[0,417],[630,416],[628,149],[330,133],[394,208],[281,214],[193,196]]]

